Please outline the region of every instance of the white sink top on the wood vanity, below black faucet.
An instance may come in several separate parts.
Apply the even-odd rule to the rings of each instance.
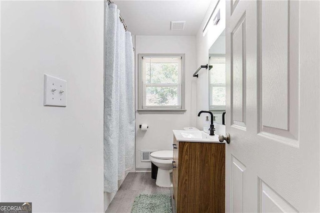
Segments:
[[[177,141],[219,142],[218,135],[209,135],[204,131],[172,130]]]

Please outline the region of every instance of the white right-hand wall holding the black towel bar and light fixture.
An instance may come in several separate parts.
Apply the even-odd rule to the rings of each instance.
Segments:
[[[202,34],[202,29],[208,20],[210,14],[212,13],[217,0],[212,0],[206,14],[203,18],[203,21],[199,27],[199,30],[196,34],[196,58],[197,58],[197,66],[204,65],[208,63],[208,53],[209,48],[214,43],[214,41],[219,37],[221,32],[225,28],[225,1],[220,0],[213,16],[218,9],[220,9],[220,20],[217,25],[213,25],[212,23],[208,24],[206,33]],[[208,110],[209,108],[209,72],[205,70],[201,70],[198,72],[199,77],[196,79],[196,111],[200,110]],[[203,128],[203,122],[205,120],[205,113],[202,113],[200,117],[196,117],[196,127],[201,129]],[[223,132],[222,132],[223,133]]]

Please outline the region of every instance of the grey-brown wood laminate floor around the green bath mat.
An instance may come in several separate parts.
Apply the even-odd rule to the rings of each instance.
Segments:
[[[172,199],[172,188],[161,188],[156,186],[155,179],[151,178],[151,172],[129,172],[105,213],[130,212],[134,198],[140,193],[170,194],[172,200],[172,213],[176,212],[174,199]]]

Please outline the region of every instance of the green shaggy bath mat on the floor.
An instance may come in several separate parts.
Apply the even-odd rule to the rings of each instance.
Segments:
[[[134,198],[131,213],[172,213],[169,194],[139,194]]]

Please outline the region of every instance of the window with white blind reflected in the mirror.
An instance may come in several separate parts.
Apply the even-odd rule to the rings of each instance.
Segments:
[[[212,65],[209,74],[210,109],[225,109],[225,57],[210,56],[209,64]]]

